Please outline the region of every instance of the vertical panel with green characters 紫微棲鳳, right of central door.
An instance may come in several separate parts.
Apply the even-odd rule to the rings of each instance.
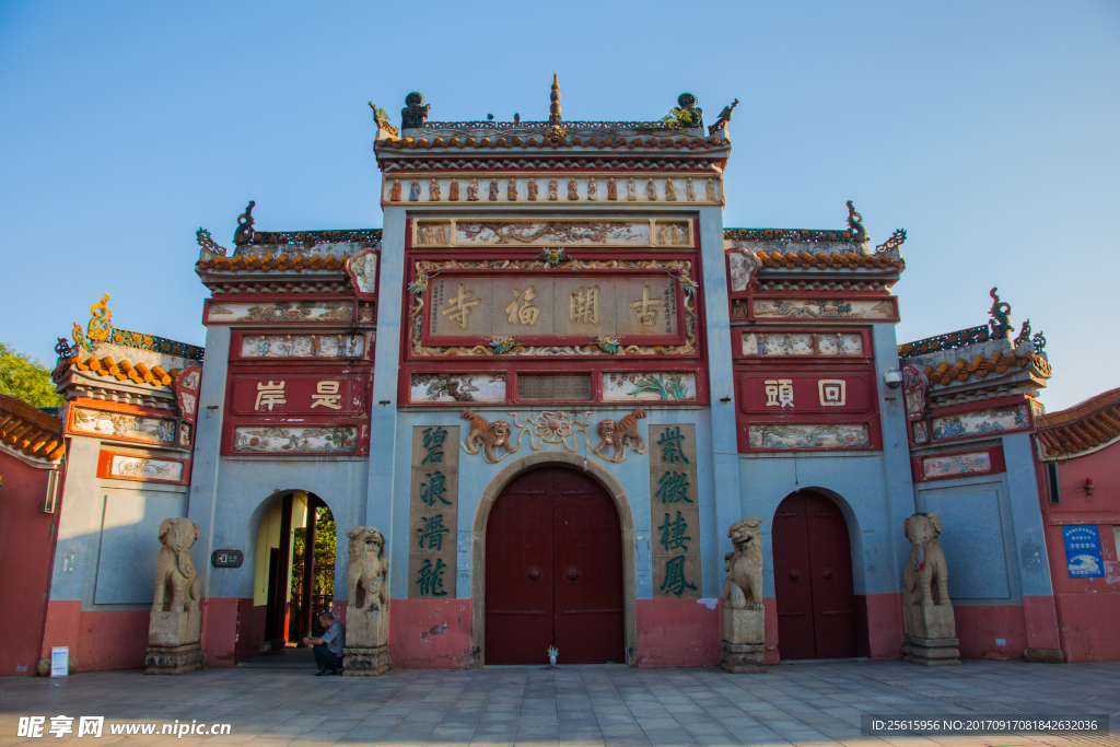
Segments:
[[[696,427],[650,426],[654,599],[699,599],[700,497]]]

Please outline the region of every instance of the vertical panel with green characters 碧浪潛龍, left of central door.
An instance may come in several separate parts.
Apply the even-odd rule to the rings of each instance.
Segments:
[[[455,597],[459,532],[459,427],[412,428],[409,599]]]

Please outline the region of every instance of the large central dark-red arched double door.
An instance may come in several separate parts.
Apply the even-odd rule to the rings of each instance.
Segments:
[[[514,478],[486,524],[486,663],[625,662],[618,512],[582,471]]]

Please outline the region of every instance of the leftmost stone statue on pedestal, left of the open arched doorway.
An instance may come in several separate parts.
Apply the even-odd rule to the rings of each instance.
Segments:
[[[148,624],[148,674],[183,674],[202,669],[202,582],[190,559],[198,524],[189,519],[166,519],[159,526],[164,547],[156,560],[156,598]]]

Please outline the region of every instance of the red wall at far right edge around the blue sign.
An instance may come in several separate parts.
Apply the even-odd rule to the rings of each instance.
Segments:
[[[1046,483],[1046,468],[1039,469]],[[1046,551],[1054,586],[1058,641],[1067,662],[1113,661],[1120,659],[1120,562],[1112,531],[1120,524],[1120,443],[1113,443],[1084,457],[1058,464],[1062,502],[1049,503],[1043,492],[1046,521]],[[1093,480],[1093,494],[1085,492],[1085,479]],[[1063,525],[1095,525],[1101,536],[1102,578],[1070,578],[1065,557]],[[1035,645],[1035,644],[1032,644]]]

